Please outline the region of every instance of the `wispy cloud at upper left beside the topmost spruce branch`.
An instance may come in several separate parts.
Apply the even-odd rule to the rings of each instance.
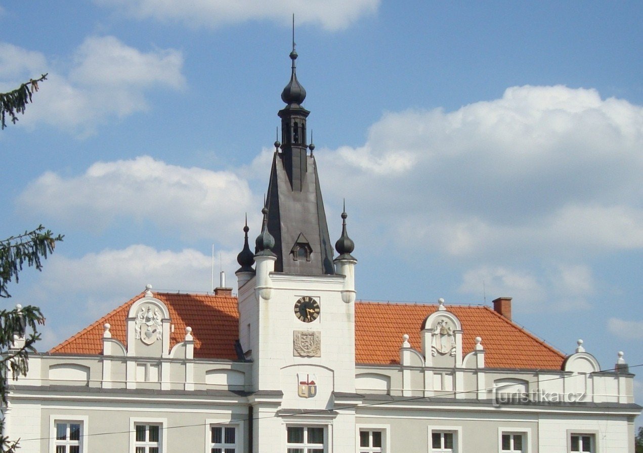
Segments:
[[[44,122],[82,136],[109,118],[145,111],[145,91],[167,87],[182,89],[183,55],[176,49],[143,52],[111,36],[88,37],[71,63],[59,67],[42,53],[0,44],[0,87],[49,73],[19,124]],[[15,88],[15,86],[14,86]]]

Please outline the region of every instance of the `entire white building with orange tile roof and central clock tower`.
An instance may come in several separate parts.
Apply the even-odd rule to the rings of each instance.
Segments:
[[[511,298],[356,301],[347,214],[334,256],[290,57],[238,296],[148,285],[32,356],[5,434],[25,453],[633,452],[641,408],[622,353],[609,371],[582,341],[565,357],[512,323]]]

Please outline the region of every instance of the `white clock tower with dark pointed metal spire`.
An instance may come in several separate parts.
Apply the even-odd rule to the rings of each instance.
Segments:
[[[289,429],[311,425],[335,451],[349,451],[354,429],[333,426],[354,427],[357,260],[345,212],[333,257],[297,57],[293,42],[291,78],[281,95],[286,105],[278,112],[282,142],[275,143],[261,231],[253,253],[246,224],[237,258],[239,352],[253,363],[249,400],[258,439],[282,436],[269,445],[283,452]]]

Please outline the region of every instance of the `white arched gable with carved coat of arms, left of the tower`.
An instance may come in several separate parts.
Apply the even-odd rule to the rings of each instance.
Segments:
[[[168,357],[170,312],[147,285],[145,297],[134,302],[127,314],[127,355]]]

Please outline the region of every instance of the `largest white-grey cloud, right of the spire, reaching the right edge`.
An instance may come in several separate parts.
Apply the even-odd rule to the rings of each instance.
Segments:
[[[326,190],[403,244],[568,260],[643,247],[642,149],[642,107],[523,86],[454,112],[387,112],[363,146],[317,155]]]

